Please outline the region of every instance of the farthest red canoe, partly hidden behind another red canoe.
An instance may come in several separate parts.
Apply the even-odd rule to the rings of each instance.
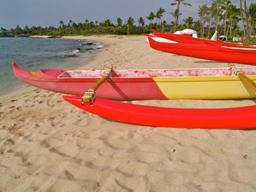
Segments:
[[[195,38],[191,35],[176,35],[173,33],[161,33],[155,30],[152,30],[153,35],[161,37],[161,38],[166,38],[168,40],[172,40],[175,42],[179,42],[182,44],[215,44],[215,45],[223,45],[223,46],[228,46],[228,47],[245,47],[245,48],[250,48],[250,49],[256,49],[256,47],[253,46],[245,46],[241,44],[235,44],[235,43],[230,43],[230,42],[223,42],[221,40],[208,40],[204,38]]]

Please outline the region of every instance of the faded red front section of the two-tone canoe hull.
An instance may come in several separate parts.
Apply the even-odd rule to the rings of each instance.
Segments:
[[[64,71],[65,70],[61,69],[51,69],[31,73],[27,70],[22,70],[13,63],[13,72],[20,81],[52,92],[65,93],[68,95],[83,95],[84,92],[92,88],[92,85],[99,80],[99,78],[57,78]],[[154,79],[150,77],[108,79],[108,81],[103,83],[97,90],[97,97],[120,100],[167,99]]]

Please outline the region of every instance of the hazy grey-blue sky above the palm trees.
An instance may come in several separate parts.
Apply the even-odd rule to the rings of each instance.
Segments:
[[[163,19],[170,23],[173,17],[170,12],[175,10],[170,3],[174,0],[0,0],[0,28],[15,28],[21,26],[58,26],[60,20],[67,22],[72,19],[74,22],[106,19],[116,23],[116,18],[121,17],[124,21],[128,17],[138,20],[143,17],[145,20],[149,12],[156,12],[158,8],[164,8]],[[198,19],[197,9],[200,4],[211,5],[211,0],[186,0],[193,4],[181,6],[181,20],[191,16]],[[239,1],[232,1],[237,4]],[[247,1],[248,4],[255,0]]]

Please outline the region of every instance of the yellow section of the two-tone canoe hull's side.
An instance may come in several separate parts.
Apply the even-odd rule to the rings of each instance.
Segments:
[[[248,76],[255,81],[256,76]],[[154,77],[167,99],[250,99],[255,98],[247,84],[237,76]]]

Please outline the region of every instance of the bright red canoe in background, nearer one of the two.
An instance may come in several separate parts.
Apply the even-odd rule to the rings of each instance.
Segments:
[[[224,61],[227,63],[241,63],[256,65],[256,48],[252,46],[228,47],[216,45],[212,42],[205,44],[184,44],[159,42],[148,36],[150,47],[158,51],[201,58],[205,60]]]

